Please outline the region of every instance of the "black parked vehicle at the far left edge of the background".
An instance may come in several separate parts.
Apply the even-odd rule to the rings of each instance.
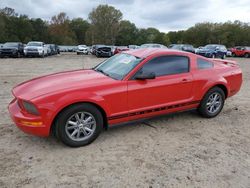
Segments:
[[[21,42],[6,42],[0,49],[0,57],[21,57],[24,55]]]

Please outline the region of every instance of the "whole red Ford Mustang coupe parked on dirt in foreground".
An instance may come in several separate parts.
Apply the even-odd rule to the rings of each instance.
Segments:
[[[167,49],[117,54],[90,70],[35,78],[13,89],[9,112],[24,132],[83,146],[103,128],[197,108],[215,117],[241,87],[234,61]]]

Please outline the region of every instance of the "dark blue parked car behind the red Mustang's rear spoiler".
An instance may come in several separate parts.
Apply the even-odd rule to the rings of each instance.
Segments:
[[[208,44],[203,49],[199,50],[197,54],[208,58],[225,59],[227,56],[227,48],[220,44]]]

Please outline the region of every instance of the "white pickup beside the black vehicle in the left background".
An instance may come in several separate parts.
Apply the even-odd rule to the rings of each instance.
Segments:
[[[46,55],[48,55],[48,49],[43,42],[31,41],[24,48],[24,55],[26,57],[28,57],[28,56],[45,57]]]

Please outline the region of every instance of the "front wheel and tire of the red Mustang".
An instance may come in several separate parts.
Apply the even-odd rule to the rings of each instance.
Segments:
[[[86,122],[84,123],[84,121]],[[92,143],[99,136],[102,128],[102,114],[91,104],[77,104],[69,107],[59,114],[56,121],[57,137],[70,147],[80,147]]]

